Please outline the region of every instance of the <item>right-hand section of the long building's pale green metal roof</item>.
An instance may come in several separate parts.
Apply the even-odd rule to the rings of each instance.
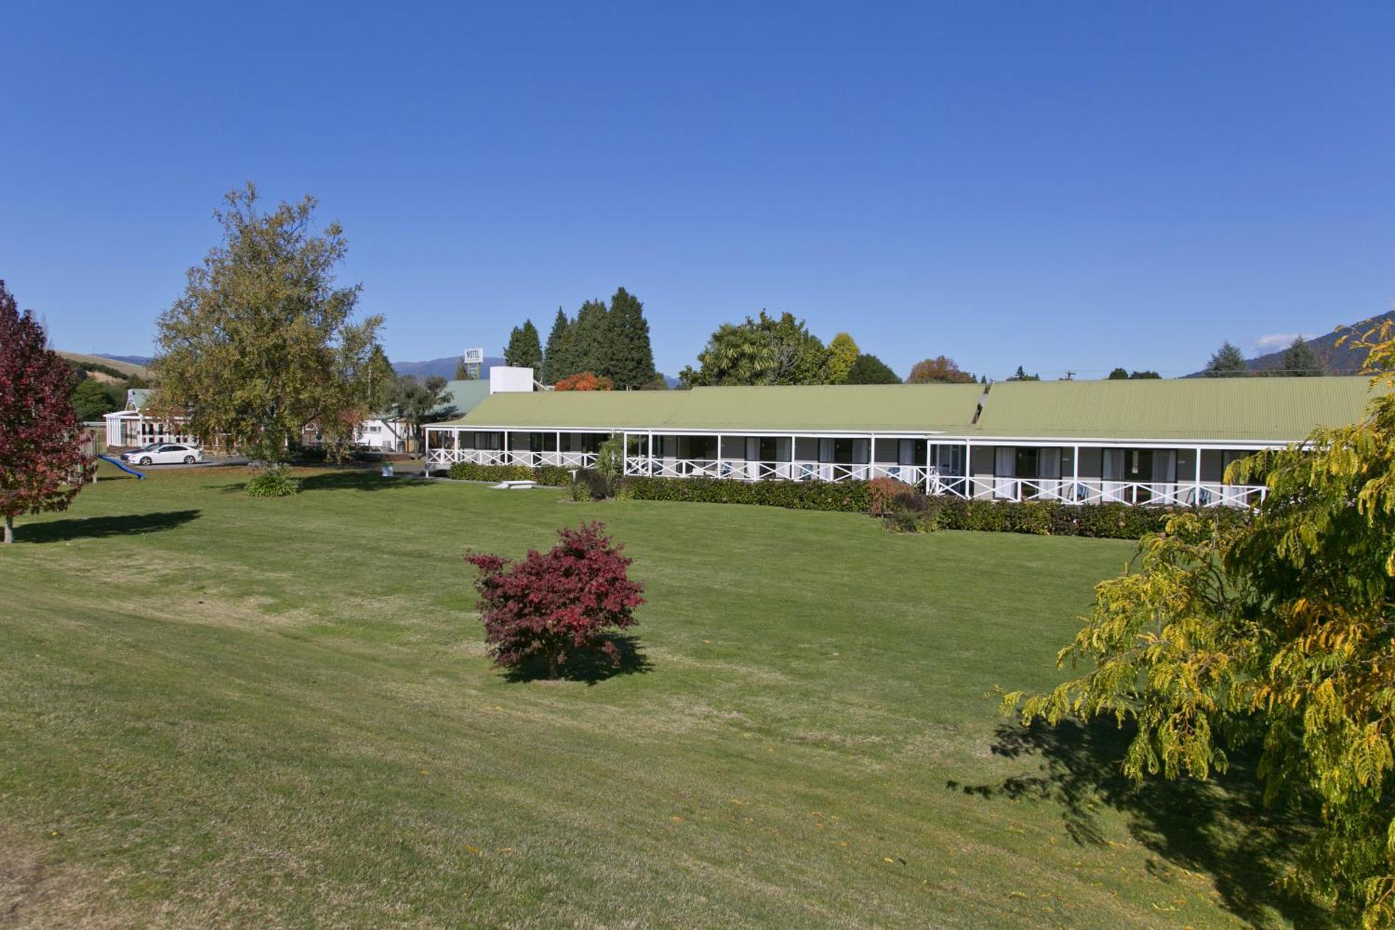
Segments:
[[[1363,377],[1000,381],[970,436],[1300,440],[1368,399]]]

